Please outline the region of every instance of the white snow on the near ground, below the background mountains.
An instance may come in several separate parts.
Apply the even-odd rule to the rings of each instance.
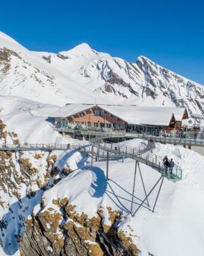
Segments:
[[[61,141],[69,143],[82,143],[83,141],[72,140],[71,138],[62,138],[62,136],[54,131],[54,127],[47,121],[50,112],[57,110],[56,106],[40,104],[39,102],[27,101],[18,97],[1,97],[0,108],[1,118],[3,118],[8,131],[18,133],[20,141],[38,142],[41,141]],[[87,143],[87,142],[85,142]],[[126,144],[131,147],[138,147],[143,143],[142,140],[128,140],[120,144]],[[62,170],[69,168],[73,170],[68,177],[58,175],[61,181],[53,188],[47,191],[41,191],[33,184],[31,188],[37,191],[36,196],[32,199],[27,198],[26,191],[29,187],[23,186],[22,205],[27,210],[22,214],[22,210],[17,204],[17,198],[10,198],[5,193],[1,194],[5,202],[10,202],[11,209],[18,216],[19,212],[24,216],[24,220],[29,218],[32,211],[36,214],[41,211],[41,196],[45,202],[45,211],[48,207],[52,207],[55,211],[59,211],[57,205],[52,204],[52,199],[64,198],[69,199],[69,204],[76,205],[75,210],[80,214],[84,212],[91,218],[96,216],[99,206],[103,207],[105,223],[110,225],[108,220],[107,207],[113,210],[122,211],[121,230],[127,236],[131,236],[134,243],[142,251],[142,256],[148,252],[157,256],[191,256],[203,255],[203,214],[204,214],[204,178],[203,164],[204,157],[186,148],[156,144],[154,152],[157,156],[163,157],[167,155],[173,157],[175,163],[178,163],[183,170],[183,179],[174,183],[164,180],[161,195],[159,196],[154,213],[142,207],[135,217],[129,214],[131,207],[131,193],[133,189],[133,175],[135,170],[135,161],[132,159],[110,160],[109,180],[106,181],[106,161],[101,160],[94,162],[94,166],[90,166],[90,157],[86,154],[76,152],[75,150],[67,150],[66,152],[54,151],[50,156],[57,156],[55,166]],[[42,154],[43,152],[38,152]],[[47,164],[47,154],[45,152],[41,159],[35,159],[36,152],[24,152],[24,158],[29,159],[33,167],[39,170],[38,179],[41,180],[45,174],[45,165]],[[13,160],[14,161],[14,160]],[[143,180],[147,191],[150,191],[159,173],[152,170],[145,164],[140,164]],[[20,172],[18,164],[15,166]],[[13,179],[11,177],[11,179]],[[31,180],[35,177],[31,177]],[[52,179],[51,179],[52,180]],[[50,182],[51,182],[50,180]],[[133,205],[133,210],[140,200],[144,198],[142,182],[137,176],[136,178],[136,196],[139,198]],[[149,198],[150,204],[154,204],[157,190],[152,193]],[[87,203],[88,202],[88,203]],[[4,252],[15,253],[18,244],[13,240],[13,235],[18,230],[18,219],[12,220],[12,214],[8,208],[1,209],[1,218],[8,220],[9,230],[3,239]],[[131,229],[129,228],[131,227]],[[22,232],[22,231],[21,231]],[[11,242],[11,246],[8,243]],[[190,244],[190,246],[189,246]],[[3,253],[4,253],[3,252]],[[2,253],[2,255],[4,255]],[[18,251],[17,251],[18,253]],[[165,253],[165,254],[164,254]]]

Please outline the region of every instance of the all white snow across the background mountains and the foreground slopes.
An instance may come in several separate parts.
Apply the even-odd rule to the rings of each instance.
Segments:
[[[7,131],[18,134],[20,143],[70,143],[71,145],[87,143],[87,141],[62,137],[55,131],[48,118],[58,111],[59,106],[72,102],[90,104],[94,104],[95,101],[98,104],[114,102],[155,107],[175,107],[174,102],[181,102],[181,106],[186,106],[193,113],[202,114],[203,87],[164,70],[147,58],[140,57],[138,63],[129,63],[120,58],[112,58],[109,54],[96,52],[88,45],[82,44],[70,51],[59,52],[68,57],[62,60],[52,52],[31,52],[9,36],[0,33],[0,48],[3,47],[16,51],[21,58],[12,55],[8,74],[3,75],[0,72],[2,95],[0,118],[7,125]],[[42,56],[50,56],[51,63],[43,60]],[[152,73],[154,76],[150,75]],[[110,74],[116,74],[121,83],[115,79],[112,83],[115,92],[108,93],[104,89],[105,84],[110,82]],[[125,86],[122,85],[123,82],[126,83]],[[129,90],[129,86],[135,90],[136,95],[138,93],[138,96]],[[148,89],[157,94],[155,99],[149,96]],[[166,97],[164,97],[165,93]],[[201,108],[194,103],[197,101],[200,102]],[[131,111],[127,111],[126,108],[128,107],[124,109],[115,107],[114,113],[120,111],[124,118],[129,118],[129,122],[133,122],[130,119]],[[153,110],[154,108],[152,108],[152,116],[157,113],[154,122],[156,120],[158,123],[168,122],[168,118],[165,117],[167,114],[164,114],[165,109],[163,112],[159,109]],[[145,117],[142,111],[138,111],[138,119],[134,116],[134,122],[143,122],[142,118],[151,120],[150,111],[147,112],[149,114]],[[169,115],[168,111],[167,113]],[[125,144],[136,147],[141,142],[141,140],[131,140],[126,141]],[[41,154],[40,159],[34,158],[36,153]],[[104,159],[94,162],[94,166],[91,167],[91,159],[86,154],[75,150],[52,152],[50,156],[57,156],[55,166],[59,170],[63,168],[73,170],[68,177],[60,173],[55,178],[61,177],[62,180],[47,191],[42,191],[35,183],[26,186],[21,182],[18,186],[18,191],[22,195],[21,204],[15,196],[11,197],[3,190],[0,191],[1,200],[6,203],[4,209],[0,208],[0,217],[1,220],[8,221],[8,228],[0,230],[3,244],[3,248],[0,247],[0,255],[20,255],[19,244],[14,235],[23,234],[20,225],[24,225],[32,211],[35,214],[41,211],[40,202],[43,196],[45,209],[52,205],[52,199],[68,197],[69,203],[76,205],[78,213],[84,212],[90,218],[96,216],[96,211],[101,206],[106,224],[110,224],[106,210],[108,206],[113,210],[122,211],[120,228],[127,236],[131,236],[142,251],[142,256],[148,255],[148,252],[155,256],[203,256],[204,157],[186,148],[159,143],[156,144],[154,153],[161,157],[167,155],[169,158],[172,157],[175,163],[179,163],[183,170],[183,179],[177,183],[164,179],[156,211],[153,213],[142,207],[135,217],[131,217],[129,210],[135,161],[124,159],[122,163],[122,159],[118,157],[110,160],[110,179],[107,182]],[[45,152],[23,152],[22,157],[29,159],[33,167],[38,169],[38,173],[30,175],[29,179],[43,182],[47,156],[48,153]],[[16,157],[19,157],[18,153]],[[15,171],[20,176],[22,172],[14,156],[13,163]],[[146,189],[150,191],[159,178],[159,173],[145,164],[140,164],[140,167]],[[52,179],[54,177],[48,180],[48,184],[52,183]],[[136,180],[135,192],[138,199],[135,198],[134,210],[136,204],[144,198],[142,182],[138,176]],[[13,173],[10,175],[10,181],[15,182]],[[36,195],[28,198],[26,195],[29,189],[36,191]],[[149,198],[151,205],[154,204],[156,193],[155,190]],[[8,209],[9,205],[10,209]],[[56,205],[52,207],[56,211],[59,210]]]

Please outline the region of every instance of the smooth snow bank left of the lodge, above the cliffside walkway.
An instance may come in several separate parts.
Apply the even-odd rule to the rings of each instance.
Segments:
[[[20,143],[70,143],[71,145],[87,143],[87,141],[62,137],[55,131],[48,116],[58,108],[22,97],[0,96],[0,118],[6,124],[7,131],[18,134]]]

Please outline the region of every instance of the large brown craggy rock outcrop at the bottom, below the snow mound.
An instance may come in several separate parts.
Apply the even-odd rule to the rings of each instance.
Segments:
[[[75,205],[69,205],[68,198],[53,201],[60,212],[48,208],[38,215],[32,214],[27,221],[24,236],[20,239],[22,256],[102,256],[137,255],[131,237],[118,230],[120,212],[108,208],[112,225],[104,225],[103,209],[97,216],[77,214]]]

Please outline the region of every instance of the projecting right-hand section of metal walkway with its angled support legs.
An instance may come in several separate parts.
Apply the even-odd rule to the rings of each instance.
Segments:
[[[122,157],[129,157],[131,159],[135,159],[135,174],[133,179],[133,192],[132,192],[132,199],[131,199],[131,209],[130,214],[132,216],[135,216],[136,212],[140,209],[140,207],[145,206],[146,209],[149,209],[149,211],[154,212],[157,200],[159,198],[159,193],[161,192],[161,187],[163,186],[164,178],[168,180],[178,181],[182,179],[182,169],[175,164],[173,168],[167,168],[163,164],[163,159],[161,157],[158,157],[156,154],[152,154],[152,148],[154,148],[154,145],[148,145],[145,147],[145,145],[140,145],[140,147],[134,148],[129,147],[127,145],[122,145],[118,143],[104,143],[103,138],[95,138],[91,140],[91,150],[88,148],[89,152],[91,151],[91,165],[93,165],[93,156],[98,154],[98,156],[101,156],[100,150],[102,150],[102,156],[104,156],[103,152],[106,152],[106,180],[108,180],[108,172],[109,172],[109,159],[112,156],[122,156]],[[96,150],[94,150],[96,148]],[[85,148],[87,150],[87,148]],[[109,156],[110,154],[110,156]],[[142,176],[142,170],[140,169],[140,163],[146,164],[153,168],[154,170],[157,170],[157,172],[161,173],[161,176],[156,181],[156,183],[152,186],[150,191],[147,193],[147,190],[145,188],[145,180],[143,180]],[[135,186],[138,178],[136,178],[136,173],[139,172],[139,179],[142,181],[142,187],[143,191],[145,193],[145,198],[143,200],[140,200],[139,202],[135,202]],[[154,199],[154,203],[152,206],[150,206],[149,202],[149,196],[152,194],[152,192],[156,189],[156,187],[159,186],[159,189],[156,194],[156,198]],[[138,205],[136,209],[134,208],[134,205]]]

